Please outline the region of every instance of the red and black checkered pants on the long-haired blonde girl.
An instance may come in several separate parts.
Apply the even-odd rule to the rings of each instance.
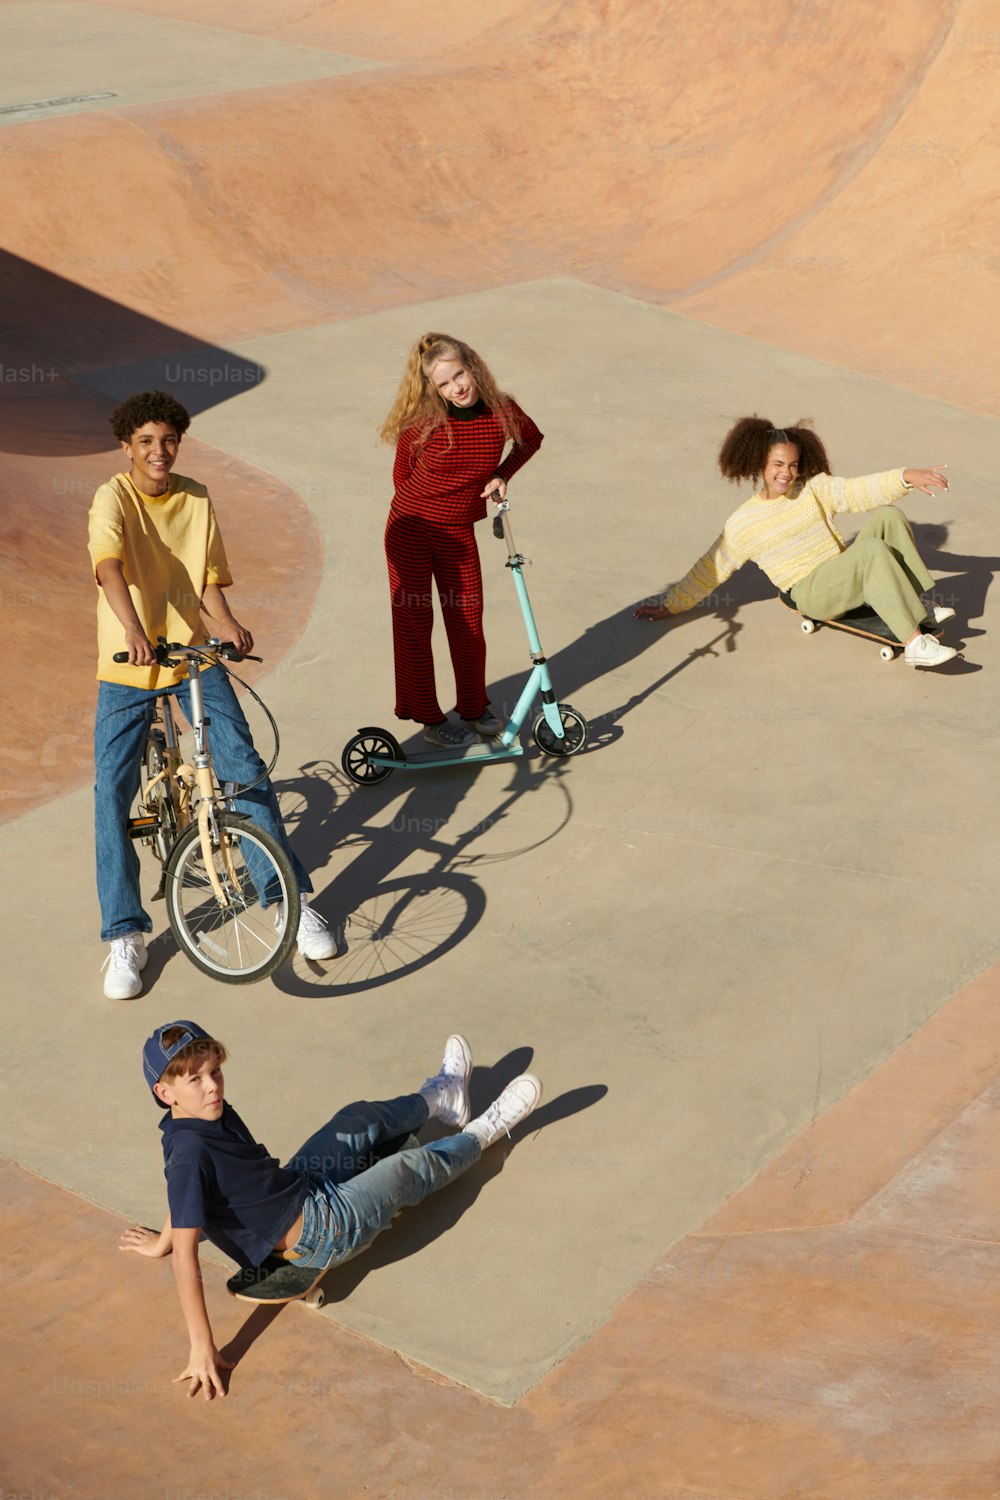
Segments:
[[[397,717],[421,724],[438,724],[445,717],[438,704],[430,650],[433,580],[451,651],[457,711],[462,718],[480,718],[489,699],[483,573],[472,526],[436,526],[421,516],[390,510],[385,558],[393,596]]]

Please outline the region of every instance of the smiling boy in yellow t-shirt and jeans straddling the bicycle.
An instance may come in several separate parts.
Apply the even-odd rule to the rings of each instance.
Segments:
[[[97,716],[94,723],[94,830],[100,940],[111,944],[105,994],[129,1000],[142,988],[144,933],[153,924],[139,900],[139,861],[126,825],[139,789],[142,747],[160,693],[175,693],[190,711],[187,684],[178,669],[156,663],[151,640],[180,645],[204,639],[201,614],[216,634],[238,651],[253,650],[253,636],[231,614],[223,590],[232,582],[216,514],[204,484],[172,474],[187,411],[162,390],[129,396],[111,416],[129,471],[102,484],[90,508],[88,549],[97,596]],[[127,664],[114,654],[127,651]],[[219,668],[201,674],[211,750],[220,780],[249,786],[264,771],[250,729]],[[303,892],[312,890],[303,866],[288,848],[271,789],[237,796],[237,807],[288,850]],[[298,948],[307,958],[333,958],[336,942],[322,916],[301,903]]]

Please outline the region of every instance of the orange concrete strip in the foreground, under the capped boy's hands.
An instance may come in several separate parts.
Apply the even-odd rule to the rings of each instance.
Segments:
[[[249,1311],[214,1266],[210,1314],[237,1368],[225,1401],[186,1401],[165,1263],[118,1256],[121,1220],[0,1164],[4,1486],[103,1500],[153,1474],[171,1497],[253,1500],[991,1500],[999,1002],[994,970],[513,1410],[301,1306]],[[420,1252],[415,1228],[393,1230],[399,1254]]]

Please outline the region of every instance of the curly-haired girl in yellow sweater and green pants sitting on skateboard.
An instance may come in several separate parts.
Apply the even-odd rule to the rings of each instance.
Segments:
[[[909,489],[948,489],[940,468],[903,468],[862,478],[834,478],[826,448],[799,423],[775,428],[765,417],[741,417],[718,454],[726,478],[760,489],[744,501],[694,567],[636,616],[667,620],[694,609],[744,562],[756,562],[804,615],[834,620],[868,604],[904,642],[910,666],[940,666],[957,652],[925,627],[951,620],[954,609],[928,606],[933,578],[916,550],[906,516],[894,501]],[[834,516],[868,512],[853,543]]]

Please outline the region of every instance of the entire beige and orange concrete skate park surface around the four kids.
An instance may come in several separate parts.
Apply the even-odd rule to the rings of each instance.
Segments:
[[[153,1454],[190,1490],[181,1402],[195,1492],[993,1494],[988,9],[10,3],[0,30],[6,1488],[139,1492]],[[394,728],[375,432],[430,327],[546,432],[513,518],[591,744],[355,789],[345,741]],[[178,468],[219,501],[342,956],[214,986],[154,909],[111,1005],[84,534],[106,412],[150,384],[195,412]],[[714,454],[754,410],[814,417],[837,472],[949,462],[906,510],[954,668],[805,639],[751,570],[633,620],[735,504]],[[523,627],[480,530],[510,708]],[[244,1317],[210,1257],[220,1410],[169,1384],[168,1269],[114,1248],[163,1212],[136,1059],[174,1014],[279,1155],[454,1028],[477,1102],[546,1084],[322,1314]]]

